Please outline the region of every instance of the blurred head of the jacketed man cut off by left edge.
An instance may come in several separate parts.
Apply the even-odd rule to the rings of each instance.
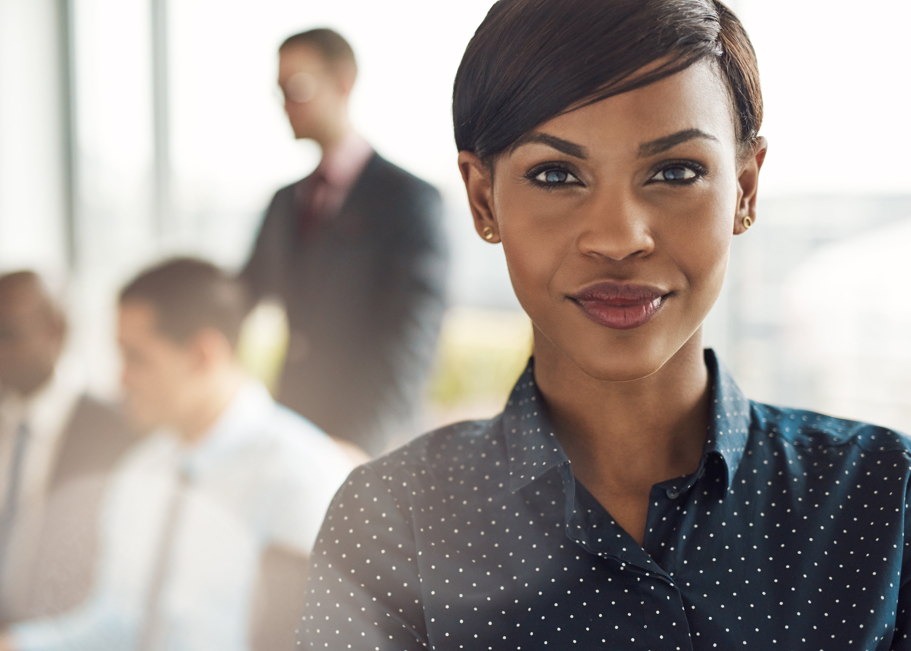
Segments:
[[[32,271],[0,277],[0,387],[29,395],[54,372],[66,320]]]

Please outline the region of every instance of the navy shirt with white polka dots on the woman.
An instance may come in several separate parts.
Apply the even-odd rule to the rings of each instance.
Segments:
[[[711,351],[696,473],[640,546],[576,481],[532,364],[506,410],[355,470],[313,551],[317,649],[909,649],[909,442],[746,400]]]

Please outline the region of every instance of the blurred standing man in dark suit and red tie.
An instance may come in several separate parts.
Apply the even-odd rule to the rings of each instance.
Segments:
[[[313,173],[272,198],[243,270],[288,314],[279,399],[371,454],[415,430],[445,303],[439,193],[377,155],[348,118],[357,66],[329,29],[288,38],[279,86]],[[416,432],[415,432],[416,433]]]

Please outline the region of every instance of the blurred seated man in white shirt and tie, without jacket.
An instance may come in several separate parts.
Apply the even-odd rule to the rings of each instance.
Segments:
[[[194,259],[148,270],[121,292],[129,412],[157,431],[109,484],[87,601],[12,626],[0,648],[249,648],[264,550],[306,557],[352,463],[241,370],[248,305],[239,281]]]

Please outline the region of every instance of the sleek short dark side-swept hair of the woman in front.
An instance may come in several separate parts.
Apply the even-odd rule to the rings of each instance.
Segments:
[[[731,91],[738,141],[752,144],[763,121],[756,54],[718,0],[499,0],[455,76],[455,145],[489,159],[553,117],[706,58]]]

